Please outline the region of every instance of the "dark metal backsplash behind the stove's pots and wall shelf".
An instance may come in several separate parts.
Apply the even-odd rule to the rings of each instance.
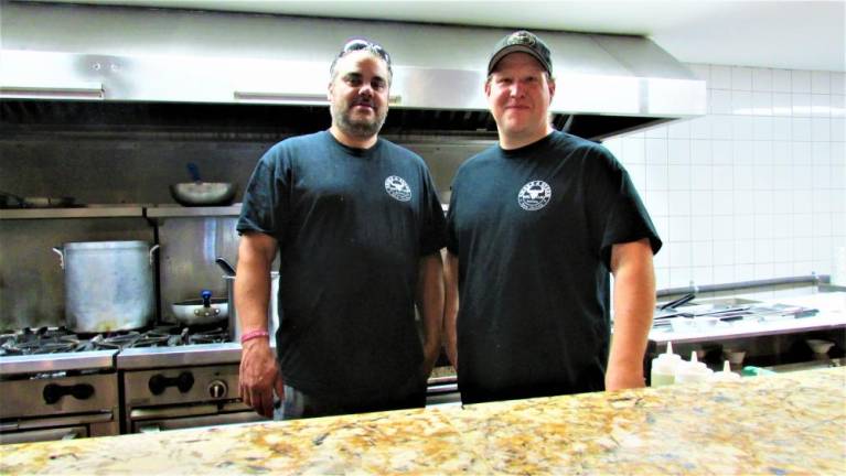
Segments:
[[[328,127],[329,125],[326,125]],[[0,138],[0,190],[22,196],[72,196],[81,204],[176,206],[168,186],[189,180],[186,162],[207,181],[237,185],[282,134],[161,131],[18,130]],[[493,141],[449,136],[387,136],[429,164],[442,202],[458,166]],[[158,242],[158,318],[202,289],[225,295],[214,258],[237,258],[234,216],[179,218],[0,219],[0,329],[63,325],[64,283],[52,247],[71,241]]]

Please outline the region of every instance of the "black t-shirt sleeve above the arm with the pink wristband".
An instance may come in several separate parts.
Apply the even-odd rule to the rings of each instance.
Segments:
[[[277,144],[261,156],[249,178],[236,225],[238,235],[259,231],[281,245],[290,219],[290,183],[289,156],[283,144]]]

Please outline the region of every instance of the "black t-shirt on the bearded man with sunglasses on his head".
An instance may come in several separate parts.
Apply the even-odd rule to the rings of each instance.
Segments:
[[[237,229],[277,239],[286,383],[312,396],[374,397],[419,375],[419,259],[445,245],[445,218],[419,155],[367,150],[328,131],[287,139],[259,161]]]

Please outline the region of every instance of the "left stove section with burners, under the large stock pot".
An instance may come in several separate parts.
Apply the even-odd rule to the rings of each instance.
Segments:
[[[0,335],[0,442],[117,434],[117,353],[63,328]]]

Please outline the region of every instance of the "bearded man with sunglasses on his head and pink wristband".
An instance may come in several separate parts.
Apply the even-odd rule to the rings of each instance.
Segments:
[[[265,416],[274,393],[277,419],[426,403],[440,351],[445,219],[422,159],[378,138],[390,79],[382,46],[349,42],[330,67],[329,130],[270,148],[247,186],[237,223],[239,386]],[[279,331],[268,336],[277,251]]]

